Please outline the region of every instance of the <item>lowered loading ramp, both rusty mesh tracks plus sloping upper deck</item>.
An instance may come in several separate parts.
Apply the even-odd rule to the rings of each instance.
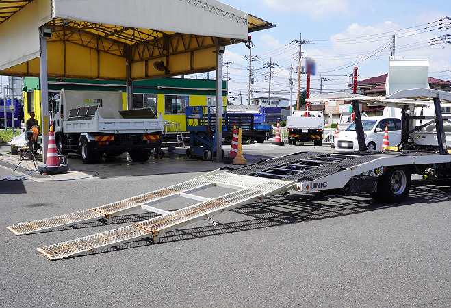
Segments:
[[[14,224],[8,229],[17,235],[36,233],[89,220],[111,219],[114,215],[142,207],[162,215],[126,227],[38,248],[38,251],[48,259],[55,260],[99,251],[140,238],[152,238],[156,243],[162,233],[178,229],[197,220],[211,220],[210,216],[222,211],[257,201],[260,198],[283,194],[292,189],[303,190],[302,183],[324,179],[330,175],[341,175],[342,172],[346,173],[355,166],[367,166],[374,160],[381,158],[393,160],[392,157],[404,155],[406,154],[388,151],[352,154],[295,153],[233,170],[216,170],[190,181],[110,203],[103,207],[94,207],[34,222]],[[420,154],[417,153],[417,155]],[[372,168],[368,165],[368,170],[370,169]],[[211,186],[233,188],[236,191],[211,199],[190,194]],[[164,202],[178,196],[201,202],[172,212],[151,206],[153,203]]]

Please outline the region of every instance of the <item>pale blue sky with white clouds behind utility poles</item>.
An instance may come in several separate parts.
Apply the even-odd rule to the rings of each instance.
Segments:
[[[290,97],[290,64],[298,64],[299,40],[302,55],[315,60],[317,74],[311,77],[311,95],[347,88],[349,74],[359,68],[359,80],[388,71],[391,35],[395,34],[395,55],[428,59],[430,76],[451,79],[451,44],[442,43],[446,16],[451,17],[450,0],[223,0],[235,8],[270,21],[275,28],[254,32],[252,49],[254,97],[268,97],[269,62],[272,68],[272,97]],[[442,29],[439,29],[442,27]],[[224,62],[229,64],[229,97],[233,103],[247,103],[249,49],[244,44],[227,47]],[[223,68],[223,79],[226,78]],[[293,72],[294,97],[297,74]],[[207,74],[198,74],[207,78]],[[210,73],[210,78],[214,74]],[[301,89],[306,87],[305,75]]]

